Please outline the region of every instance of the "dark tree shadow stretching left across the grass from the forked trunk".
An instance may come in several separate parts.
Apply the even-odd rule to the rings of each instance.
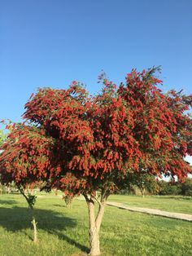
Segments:
[[[75,245],[76,248],[81,249],[82,252],[87,253],[89,249],[72,240],[71,237],[63,234],[68,227],[76,227],[76,220],[68,218],[61,213],[53,210],[34,209],[33,214],[37,220],[37,228],[44,230],[51,235],[56,235],[59,239],[67,241],[70,245]],[[0,207],[0,226],[10,232],[22,231],[28,236],[25,229],[30,227],[32,220],[32,212],[24,207],[4,208]],[[32,237],[29,236],[31,240]]]

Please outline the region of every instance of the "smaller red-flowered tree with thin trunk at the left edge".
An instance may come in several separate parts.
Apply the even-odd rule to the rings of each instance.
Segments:
[[[37,242],[37,222],[33,212],[36,196],[25,191],[45,179],[50,159],[47,152],[53,142],[37,127],[10,123],[7,129],[10,133],[0,154],[0,183],[7,187],[14,183],[24,196],[32,217],[33,241]]]

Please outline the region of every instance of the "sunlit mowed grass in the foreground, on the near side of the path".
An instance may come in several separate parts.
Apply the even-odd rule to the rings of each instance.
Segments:
[[[37,245],[33,244],[31,217],[23,196],[0,196],[1,256],[82,256],[88,253],[85,201],[73,201],[72,209],[68,210],[59,196],[40,197],[34,213],[38,222]],[[188,256],[192,255],[191,237],[190,222],[107,206],[100,241],[103,256]]]

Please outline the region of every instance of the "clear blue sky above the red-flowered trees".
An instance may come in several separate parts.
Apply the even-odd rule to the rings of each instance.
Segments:
[[[0,119],[20,121],[37,87],[99,90],[162,65],[164,90],[192,84],[191,0],[0,0]]]

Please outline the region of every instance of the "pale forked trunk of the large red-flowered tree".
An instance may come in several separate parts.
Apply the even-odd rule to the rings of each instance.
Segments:
[[[101,202],[99,203],[97,218],[95,218],[93,198],[88,199],[88,197],[85,197],[85,199],[89,210],[89,254],[91,256],[98,256],[101,254],[99,245],[99,232],[103,219],[106,201],[101,200]]]

